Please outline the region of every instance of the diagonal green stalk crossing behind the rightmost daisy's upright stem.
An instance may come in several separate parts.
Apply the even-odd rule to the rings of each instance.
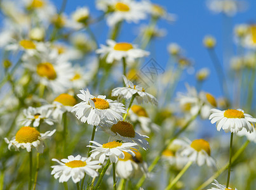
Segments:
[[[243,151],[245,150],[245,148],[248,146],[249,143],[250,141],[247,140],[241,146],[241,148],[238,149],[238,151],[234,154],[234,156],[232,156],[232,163],[234,163],[236,159],[238,159],[238,157],[243,153]],[[214,179],[217,179],[217,177],[219,177],[219,175],[222,174],[227,169],[228,166],[229,166],[229,162],[227,162],[226,165],[224,165],[217,172],[215,172],[215,174],[213,174],[212,177],[210,177],[208,180],[203,182],[203,184],[201,184],[201,186],[199,186],[196,190],[205,189],[205,187],[208,186],[211,182],[213,182]]]

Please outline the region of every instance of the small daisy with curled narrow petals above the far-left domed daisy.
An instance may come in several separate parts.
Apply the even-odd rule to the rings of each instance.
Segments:
[[[53,125],[53,119],[51,119],[51,110],[44,107],[33,108],[30,107],[23,111],[25,118],[22,120],[22,125],[38,127],[40,122],[43,121],[48,125]]]

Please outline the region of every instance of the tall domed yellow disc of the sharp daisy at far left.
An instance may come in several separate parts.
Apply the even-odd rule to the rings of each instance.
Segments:
[[[15,139],[18,143],[32,143],[38,140],[40,133],[34,127],[22,127],[18,130]]]

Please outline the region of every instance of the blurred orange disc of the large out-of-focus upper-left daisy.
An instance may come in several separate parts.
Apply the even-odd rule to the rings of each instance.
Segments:
[[[54,80],[57,77],[57,73],[54,70],[51,63],[39,63],[36,68],[36,72],[41,77],[46,77],[49,80]]]

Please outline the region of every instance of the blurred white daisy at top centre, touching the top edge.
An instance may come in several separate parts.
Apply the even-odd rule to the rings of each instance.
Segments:
[[[138,23],[147,17],[145,4],[131,0],[98,0],[96,2],[98,9],[109,12],[107,25],[114,26],[116,23],[125,20],[128,23]]]

